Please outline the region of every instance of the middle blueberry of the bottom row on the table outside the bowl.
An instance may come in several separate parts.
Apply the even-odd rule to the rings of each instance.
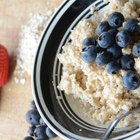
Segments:
[[[45,126],[38,126],[34,130],[34,136],[38,139],[45,139],[48,138],[46,135],[46,127]]]

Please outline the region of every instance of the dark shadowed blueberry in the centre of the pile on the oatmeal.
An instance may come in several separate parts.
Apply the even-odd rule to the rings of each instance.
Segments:
[[[122,49],[116,43],[109,47],[107,51],[112,53],[114,59],[118,59],[122,56]]]

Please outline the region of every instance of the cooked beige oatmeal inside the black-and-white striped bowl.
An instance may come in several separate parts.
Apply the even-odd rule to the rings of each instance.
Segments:
[[[122,76],[126,73],[125,70],[120,70],[117,74],[108,74],[104,66],[98,67],[95,62],[85,63],[81,59],[83,39],[97,39],[97,25],[114,11],[121,12],[125,20],[139,20],[140,8],[133,1],[110,0],[109,10],[103,17],[99,18],[98,13],[95,13],[90,19],[80,21],[71,32],[72,42],[63,46],[63,52],[58,54],[59,61],[63,64],[63,74],[58,88],[80,99],[84,105],[88,104],[85,114],[98,124],[107,124],[120,110],[129,111],[140,103],[140,87],[129,91],[123,86]],[[130,54],[131,48],[131,45],[123,48],[123,54]],[[135,58],[134,67],[140,74],[140,58]],[[120,122],[120,126],[131,125],[139,119],[140,114],[129,115]]]

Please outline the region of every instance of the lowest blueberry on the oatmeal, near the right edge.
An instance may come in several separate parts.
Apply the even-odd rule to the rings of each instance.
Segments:
[[[140,86],[140,76],[135,71],[123,75],[123,85],[128,90],[135,90]]]

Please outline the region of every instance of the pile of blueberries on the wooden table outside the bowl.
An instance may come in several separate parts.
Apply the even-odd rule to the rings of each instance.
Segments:
[[[24,140],[48,140],[57,135],[45,124],[39,115],[35,102],[31,102],[31,110],[26,113],[26,121],[31,125],[28,130],[29,136]]]

